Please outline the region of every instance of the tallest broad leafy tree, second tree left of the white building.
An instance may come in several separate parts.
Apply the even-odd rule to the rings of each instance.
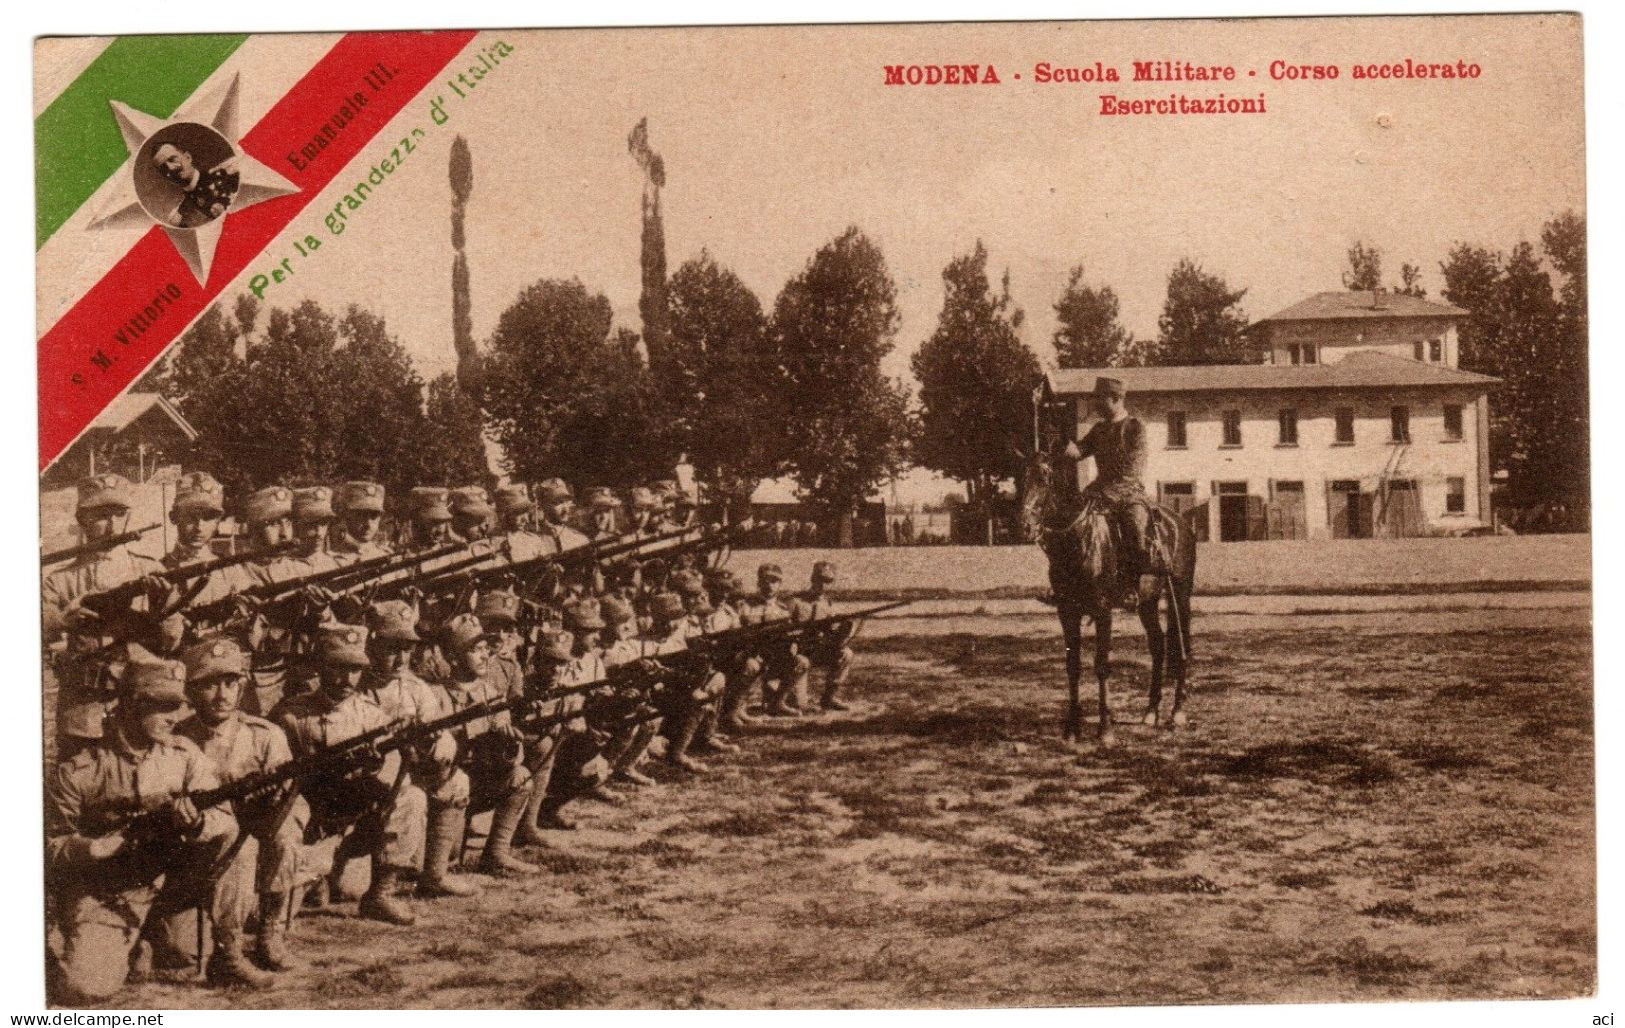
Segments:
[[[897,322],[886,258],[856,226],[814,253],[774,304],[786,464],[800,494],[838,521],[843,546],[858,503],[904,466],[908,393],[881,374]]]

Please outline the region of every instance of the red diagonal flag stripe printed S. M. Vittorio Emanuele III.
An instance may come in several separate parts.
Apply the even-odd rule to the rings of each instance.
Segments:
[[[299,187],[226,219],[210,279],[198,286],[164,231],[153,227],[39,339],[39,466],[44,469],[255,260],[384,125],[422,91],[474,32],[354,32],[344,36],[242,136],[242,149]],[[372,93],[361,76],[379,62],[395,71]],[[286,154],[309,143],[348,96],[367,93],[358,112],[304,171]],[[107,112],[112,117],[112,112]],[[114,331],[174,283],[180,297],[145,333],[122,344]],[[101,351],[110,367],[91,357]],[[83,383],[75,383],[80,375]]]

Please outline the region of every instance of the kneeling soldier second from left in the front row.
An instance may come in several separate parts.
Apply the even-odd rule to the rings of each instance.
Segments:
[[[187,646],[182,663],[187,700],[197,713],[176,734],[203,752],[223,783],[292,760],[283,729],[239,706],[249,682],[249,654],[240,645],[229,638],[203,640]],[[211,965],[224,983],[266,986],[271,978],[247,961],[242,937],[252,929],[254,957],[265,970],[294,966],[286,944],[292,893],[301,872],[322,874],[323,867],[315,851],[306,851],[310,807],[292,784],[240,801],[236,817],[244,835],[211,896]]]

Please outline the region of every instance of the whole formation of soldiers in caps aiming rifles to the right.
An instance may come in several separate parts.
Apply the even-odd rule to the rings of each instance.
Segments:
[[[476,814],[474,867],[536,874],[515,846],[574,828],[572,802],[621,802],[611,783],[650,784],[647,760],[707,773],[699,757],[738,750],[754,695],[764,716],[811,713],[817,677],[817,705],[845,710],[855,622],[830,607],[827,562],[795,596],[775,565],[746,586],[707,567],[726,533],[637,494],[637,520],[595,542],[556,479],[494,503],[413,490],[392,554],[384,499],[374,482],[258,490],[249,555],[221,562],[223,490],[192,473],[162,560],[93,547],[46,577],[58,1000],[193,961],[268,984],[294,965],[297,909],[340,900],[354,859],[370,864],[358,913],[411,924],[408,882],[478,890],[460,874]],[[119,536],[128,507],[117,476],[81,484],[86,539]]]

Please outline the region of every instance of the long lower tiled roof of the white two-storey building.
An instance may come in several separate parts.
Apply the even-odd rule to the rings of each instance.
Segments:
[[[1209,364],[1198,367],[1081,367],[1045,375],[1056,396],[1095,388],[1095,378],[1118,378],[1134,393],[1206,393],[1233,390],[1358,390],[1401,387],[1492,387],[1500,378],[1440,364],[1424,364],[1378,351],[1357,351],[1334,364]]]

